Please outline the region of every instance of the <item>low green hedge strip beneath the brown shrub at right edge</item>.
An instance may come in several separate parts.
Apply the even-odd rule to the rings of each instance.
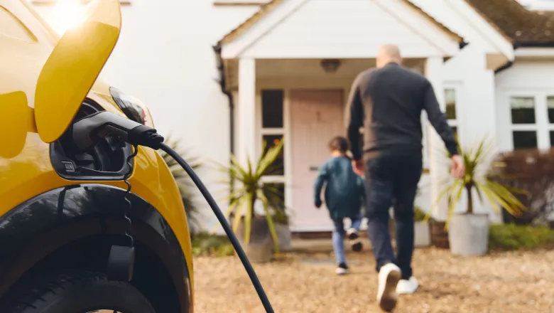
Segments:
[[[554,230],[546,227],[491,225],[489,250],[520,250],[554,246]]]

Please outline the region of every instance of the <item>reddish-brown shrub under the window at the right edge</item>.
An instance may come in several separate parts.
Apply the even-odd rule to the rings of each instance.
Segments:
[[[521,216],[510,216],[503,210],[504,222],[548,225],[548,217],[554,213],[554,149],[524,149],[498,154],[489,176],[500,184],[527,192],[515,196],[528,210]]]

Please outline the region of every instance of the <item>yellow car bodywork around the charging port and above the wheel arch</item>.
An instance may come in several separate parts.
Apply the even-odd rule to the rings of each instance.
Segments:
[[[4,216],[37,195],[76,182],[62,179],[55,172],[50,162],[49,144],[37,133],[37,125],[33,118],[36,117],[33,101],[38,77],[59,38],[38,18],[38,14],[32,8],[20,0],[0,0],[0,7],[16,16],[37,39],[36,42],[23,41],[21,38],[6,36],[0,31],[0,112],[2,116],[8,116],[11,120],[11,127],[6,126],[9,124],[7,122],[2,123],[4,127],[0,125],[0,216]],[[85,63],[80,63],[80,66],[83,64]],[[93,72],[96,70],[97,67]],[[124,116],[109,93],[109,85],[102,80],[95,81],[92,89],[88,91],[87,98],[109,112]],[[51,110],[57,110],[55,104],[45,105],[52,106]],[[47,136],[47,139],[53,137]],[[139,147],[129,182],[132,186],[131,191],[155,207],[175,233],[185,255],[187,267],[191,270],[190,281],[193,285],[192,249],[187,217],[178,185],[161,155],[153,149]],[[78,183],[126,188],[124,181]]]

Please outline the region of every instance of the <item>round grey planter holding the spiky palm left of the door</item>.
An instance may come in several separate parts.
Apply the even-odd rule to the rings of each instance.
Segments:
[[[252,218],[250,242],[244,242],[244,223],[241,223],[237,230],[237,238],[246,256],[254,263],[264,263],[273,258],[273,240],[265,216]]]

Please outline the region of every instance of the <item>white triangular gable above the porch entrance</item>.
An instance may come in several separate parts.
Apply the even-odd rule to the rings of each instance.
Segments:
[[[423,58],[462,41],[408,0],[273,0],[219,44],[223,58],[371,58],[383,43]]]

